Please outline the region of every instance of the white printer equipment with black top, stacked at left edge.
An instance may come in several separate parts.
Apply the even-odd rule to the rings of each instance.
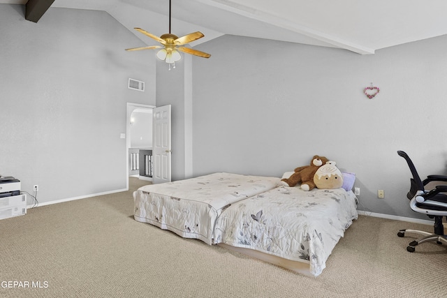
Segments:
[[[20,180],[0,177],[0,219],[27,214],[27,196],[20,194]]]

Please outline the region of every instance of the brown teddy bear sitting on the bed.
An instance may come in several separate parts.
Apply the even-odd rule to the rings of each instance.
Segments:
[[[314,175],[316,170],[328,161],[328,158],[316,155],[310,161],[310,165],[297,167],[291,177],[281,179],[281,184],[293,187],[300,183],[303,191],[310,191],[315,188]]]

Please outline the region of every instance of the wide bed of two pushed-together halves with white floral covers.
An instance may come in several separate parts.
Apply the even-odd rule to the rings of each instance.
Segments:
[[[134,218],[181,237],[318,276],[358,217],[357,198],[349,191],[352,185],[345,187],[348,191],[302,191],[279,181],[214,173],[143,186],[133,193]]]

